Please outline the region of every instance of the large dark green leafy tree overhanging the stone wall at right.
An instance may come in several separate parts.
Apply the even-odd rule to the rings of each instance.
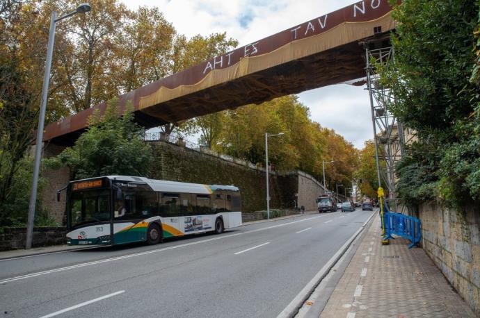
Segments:
[[[479,90],[469,81],[478,12],[478,3],[468,0],[403,1],[394,7],[395,60],[381,74],[396,97],[392,112],[419,139],[406,148],[397,169],[399,191],[409,189],[417,200],[458,205],[479,198],[472,192],[479,183],[478,139],[472,137]]]

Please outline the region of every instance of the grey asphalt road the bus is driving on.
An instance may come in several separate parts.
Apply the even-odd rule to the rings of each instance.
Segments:
[[[0,317],[276,317],[370,215],[0,260]]]

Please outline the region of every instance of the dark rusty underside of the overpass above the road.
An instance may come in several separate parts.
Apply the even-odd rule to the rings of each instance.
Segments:
[[[163,103],[161,108],[145,108],[153,117],[151,127],[191,117],[233,109],[249,103],[263,103],[287,94],[365,77],[365,49],[351,43],[282,65],[237,78],[200,92]],[[157,119],[163,119],[164,122]]]

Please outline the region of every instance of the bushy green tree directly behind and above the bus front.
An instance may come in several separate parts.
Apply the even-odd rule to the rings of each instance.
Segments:
[[[133,122],[131,104],[121,117],[118,99],[109,101],[105,114],[90,117],[86,133],[74,146],[65,149],[49,165],[70,167],[74,179],[111,174],[147,176],[153,161],[150,145],[143,142],[143,131]]]

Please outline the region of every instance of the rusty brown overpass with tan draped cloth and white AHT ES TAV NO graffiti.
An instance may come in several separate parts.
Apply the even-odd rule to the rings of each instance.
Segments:
[[[123,94],[120,106],[131,101],[136,122],[152,128],[365,78],[366,49],[389,46],[395,28],[387,2],[360,1],[292,26]],[[88,117],[105,108],[101,103],[49,124],[44,141],[73,144]]]

